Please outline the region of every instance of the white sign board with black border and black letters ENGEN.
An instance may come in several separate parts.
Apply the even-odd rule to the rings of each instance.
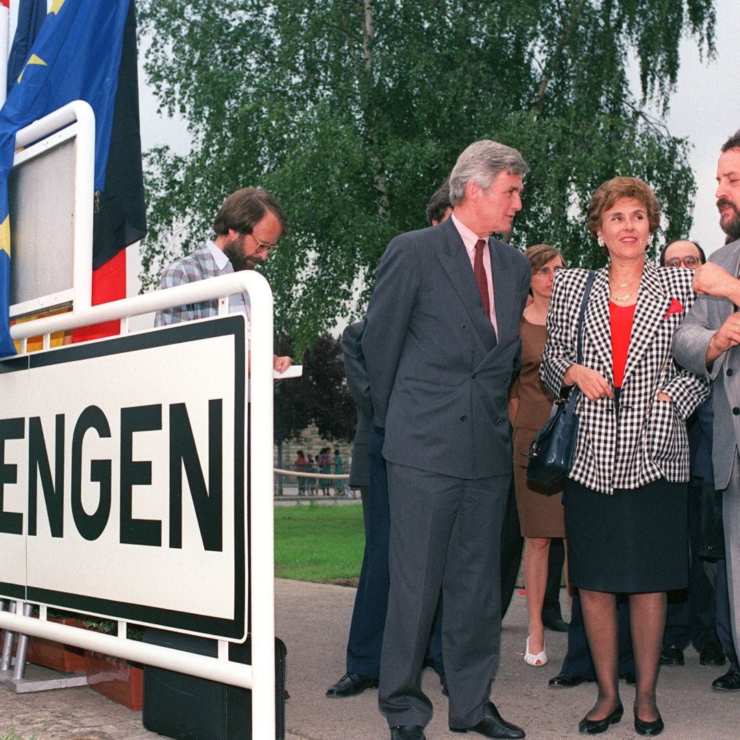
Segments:
[[[0,595],[246,634],[246,318],[0,363]]]

